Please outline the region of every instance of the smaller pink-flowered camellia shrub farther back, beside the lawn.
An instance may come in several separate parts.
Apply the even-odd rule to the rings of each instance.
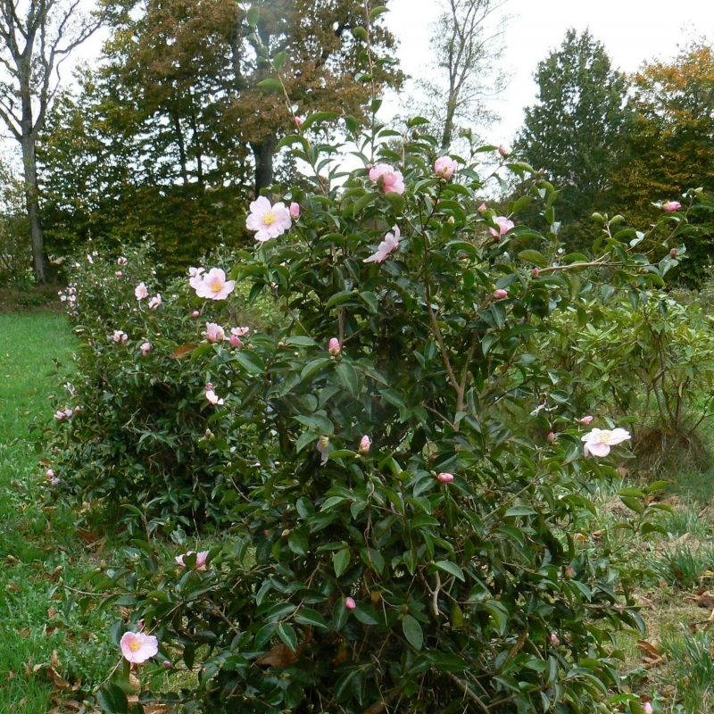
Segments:
[[[245,296],[227,303],[207,289],[199,298],[186,279],[159,286],[143,247],[112,258],[93,251],[68,270],[61,299],[78,347],[72,383],[54,403],[54,488],[131,531],[215,527],[232,455],[206,447],[215,413],[197,358],[223,338],[235,349],[256,315],[263,324],[279,316],[249,315]],[[195,268],[191,281],[208,286],[203,276],[219,270]]]

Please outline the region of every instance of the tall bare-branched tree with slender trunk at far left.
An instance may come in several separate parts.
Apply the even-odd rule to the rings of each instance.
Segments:
[[[39,220],[37,136],[59,82],[59,66],[99,27],[79,13],[79,0],[2,0],[0,3],[0,119],[21,146],[32,259],[46,280]]]

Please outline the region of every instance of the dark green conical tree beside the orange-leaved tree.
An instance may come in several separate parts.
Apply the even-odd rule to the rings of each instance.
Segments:
[[[569,29],[535,79],[537,104],[526,110],[516,148],[562,187],[560,219],[572,225],[608,186],[625,120],[625,77],[588,31],[578,37]]]

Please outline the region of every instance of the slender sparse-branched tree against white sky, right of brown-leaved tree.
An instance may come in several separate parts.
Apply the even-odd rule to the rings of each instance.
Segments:
[[[434,79],[419,79],[427,97],[410,111],[432,121],[434,134],[446,150],[455,138],[496,119],[486,102],[506,85],[498,67],[502,57],[505,19],[496,20],[506,0],[441,0],[442,12],[432,29],[436,54]]]

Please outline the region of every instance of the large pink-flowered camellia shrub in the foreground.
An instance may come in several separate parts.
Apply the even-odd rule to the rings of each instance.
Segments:
[[[194,275],[191,303],[175,303],[180,339],[164,346],[162,328],[147,355],[173,364],[175,345],[198,340],[194,303],[232,325],[228,279],[286,316],[190,358],[181,398],[200,450],[185,462],[220,473],[226,543],[165,568],[137,541],[125,568],[87,578],[129,608],[115,633],[122,651],[136,645],[97,701],[126,711],[129,667],[166,667],[167,693],[144,691],[133,710],[642,711],[616,694],[614,636],[642,627],[633,574],[590,535],[590,494],[630,434],[577,411],[568,370],[539,350],[555,313],[661,286],[663,264],[614,221],[594,256],[560,253],[545,182],[496,215],[476,167],[439,155],[422,120],[399,152],[378,124],[353,135],[363,166],[340,173],[334,148],[304,134],[335,118],[284,140],[315,190],[254,201],[254,249],[228,277]],[[518,225],[534,199],[546,235]],[[131,350],[145,379],[146,330],[124,344],[115,328],[103,325],[103,352]],[[640,518],[656,487],[627,491],[647,503]]]

